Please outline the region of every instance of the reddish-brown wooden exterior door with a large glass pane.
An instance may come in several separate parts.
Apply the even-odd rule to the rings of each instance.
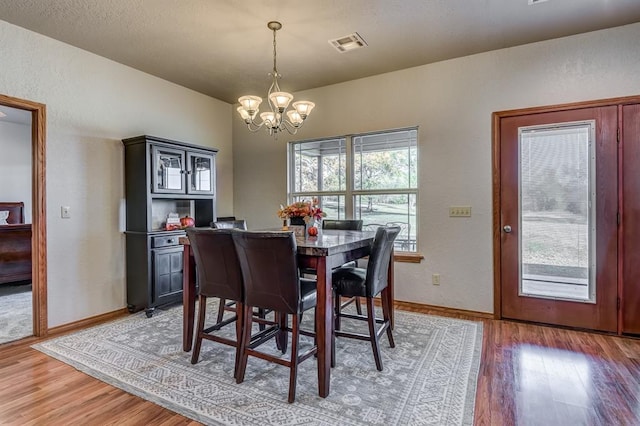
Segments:
[[[501,316],[617,331],[618,107],[498,126]]]

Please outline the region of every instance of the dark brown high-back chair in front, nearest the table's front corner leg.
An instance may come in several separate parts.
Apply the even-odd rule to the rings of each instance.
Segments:
[[[289,397],[295,400],[298,364],[317,353],[315,344],[299,354],[300,334],[315,336],[300,329],[302,312],[316,306],[315,280],[300,278],[296,240],[292,232],[236,232],[233,236],[242,270],[245,305],[240,361],[236,382],[244,381],[248,357],[254,356],[289,368]],[[278,320],[269,328],[253,334],[252,310],[261,307],[276,312]],[[288,327],[291,315],[292,326]],[[286,351],[287,332],[291,332],[290,360],[273,356],[257,348],[276,338],[282,353]]]

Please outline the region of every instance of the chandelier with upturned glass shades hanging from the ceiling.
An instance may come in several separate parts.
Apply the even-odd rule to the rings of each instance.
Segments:
[[[282,28],[282,24],[277,21],[271,21],[267,23],[267,28],[273,31],[273,71],[269,73],[272,82],[267,93],[270,111],[261,113],[261,121],[256,121],[258,107],[262,103],[262,98],[247,95],[238,98],[238,102],[240,102],[238,112],[251,132],[257,132],[262,127],[265,127],[269,131],[269,135],[277,136],[278,132],[285,130],[295,135],[316,104],[309,101],[297,101],[292,104],[293,109],[287,111],[289,103],[293,100],[293,95],[280,90],[278,79],[282,78],[282,75],[278,73],[278,68],[276,67],[276,31]]]

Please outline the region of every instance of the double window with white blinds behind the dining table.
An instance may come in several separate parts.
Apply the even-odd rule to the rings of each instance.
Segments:
[[[292,142],[289,199],[317,197],[330,219],[398,225],[396,250],[416,251],[417,129]]]

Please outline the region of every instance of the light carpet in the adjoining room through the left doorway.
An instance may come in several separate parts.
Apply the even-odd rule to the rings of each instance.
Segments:
[[[31,285],[0,291],[0,344],[33,336]]]

